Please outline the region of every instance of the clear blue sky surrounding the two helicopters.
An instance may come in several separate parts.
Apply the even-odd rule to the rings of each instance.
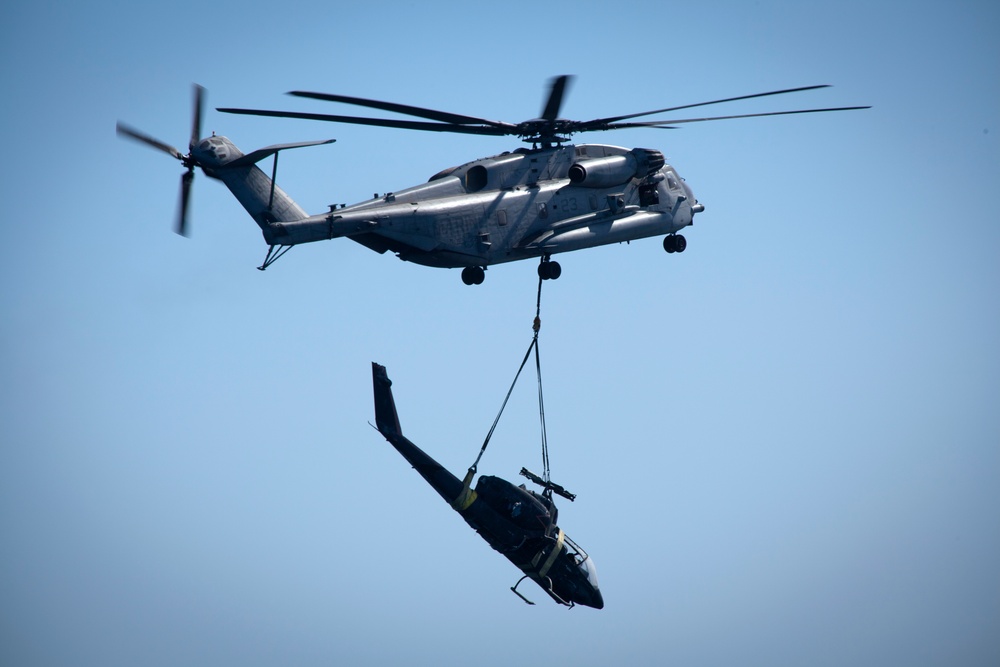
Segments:
[[[340,6],[344,5],[344,6]],[[0,663],[1000,664],[1000,5],[106,2],[0,10]],[[706,210],[560,257],[541,332],[560,524],[606,608],[565,610],[368,425],[461,473],[531,336],[533,262],[458,271],[266,247],[117,139],[282,156],[310,212],[516,139],[226,116],[312,89],[510,122],[575,74],[589,119],[869,111],[593,134]],[[532,378],[480,471],[541,468]]]

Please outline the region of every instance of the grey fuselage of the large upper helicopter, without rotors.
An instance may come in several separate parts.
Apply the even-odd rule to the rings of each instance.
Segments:
[[[239,154],[235,146],[229,153]],[[211,157],[201,164],[216,176]],[[346,236],[405,261],[455,268],[675,234],[701,210],[659,151],[582,144],[475,160],[427,183],[298,220],[275,221],[267,210],[255,217],[271,246]]]

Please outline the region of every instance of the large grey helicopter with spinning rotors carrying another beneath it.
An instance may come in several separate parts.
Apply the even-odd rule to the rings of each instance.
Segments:
[[[120,136],[138,140],[181,161],[177,232],[187,233],[187,210],[196,167],[221,180],[260,227],[268,244],[258,268],[270,266],[290,248],[313,241],[346,237],[378,253],[424,266],[461,268],[467,285],[481,284],[487,267],[540,258],[538,274],[558,278],[562,269],[552,256],[609,243],[663,236],[668,253],[683,252],[679,232],[705,210],[691,188],[649,148],[627,149],[605,144],[569,143],[573,134],[628,128],[673,129],[711,120],[852,111],[866,106],[797,109],[729,116],[634,121],[712,104],[804,92],[826,85],[775,90],[641,113],[574,121],[559,116],[570,81],[551,81],[539,118],[520,123],[381,102],[345,95],[292,91],[295,97],[337,102],[408,115],[424,120],[366,118],[296,111],[219,108],[224,113],[299,118],[485,136],[515,136],[531,145],[493,157],[444,169],[427,183],[350,206],[331,205],[308,215],[275,185],[282,150],[331,143],[333,140],[279,144],[242,153],[229,139],[214,134],[200,138],[204,90],[195,86],[194,119],[188,153],[118,123]],[[271,177],[256,163],[274,156]]]

